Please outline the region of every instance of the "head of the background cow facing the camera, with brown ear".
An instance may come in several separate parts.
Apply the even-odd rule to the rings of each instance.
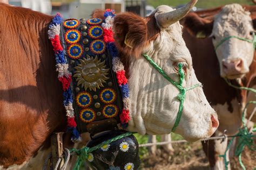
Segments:
[[[192,34],[212,38],[221,77],[244,77],[253,61],[254,46],[249,42],[254,40],[253,19],[246,8],[230,4],[208,13],[190,13],[185,19],[184,25]]]

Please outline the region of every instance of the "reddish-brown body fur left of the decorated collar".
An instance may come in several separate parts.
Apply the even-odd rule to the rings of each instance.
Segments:
[[[64,130],[65,110],[47,34],[52,17],[3,3],[0,9],[0,166],[8,167]]]

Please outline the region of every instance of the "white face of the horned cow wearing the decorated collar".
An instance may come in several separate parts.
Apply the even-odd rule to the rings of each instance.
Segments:
[[[169,6],[159,6],[156,15],[171,10]],[[182,27],[178,22],[165,29],[161,28],[159,36],[150,42],[144,53],[151,56],[177,82],[177,64],[183,63],[186,73],[184,87],[199,83],[192,67],[190,52],[182,38]],[[170,133],[179,109],[179,90],[143,57],[131,59],[129,70],[132,103],[128,129],[141,134]],[[176,133],[193,141],[210,137],[217,126],[217,115],[207,102],[203,89],[198,87],[187,91]]]

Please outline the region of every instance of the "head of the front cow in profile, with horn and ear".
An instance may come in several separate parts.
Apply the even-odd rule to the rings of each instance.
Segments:
[[[129,70],[130,131],[141,134],[170,133],[179,109],[179,90],[158,73],[142,54],[151,56],[177,82],[177,67],[182,63],[186,73],[184,87],[199,83],[178,22],[196,2],[192,0],[178,10],[162,5],[146,18],[128,12],[114,18],[114,39],[126,72]],[[218,124],[217,115],[207,102],[203,89],[198,87],[187,91],[176,132],[187,140],[197,140],[210,137]]]

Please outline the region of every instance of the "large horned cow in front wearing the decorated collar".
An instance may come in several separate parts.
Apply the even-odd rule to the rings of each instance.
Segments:
[[[183,86],[199,83],[178,22],[196,2],[178,10],[159,6],[147,18],[132,13],[115,17],[114,39],[129,75],[128,130],[170,133],[179,108],[179,90],[141,54],[151,56],[175,81],[177,65],[182,63]],[[36,157],[39,148],[46,149],[50,134],[65,129],[65,110],[47,34],[52,17],[3,3],[0,9],[0,166],[7,168]],[[210,137],[218,124],[203,89],[187,91],[176,132],[194,141]]]

